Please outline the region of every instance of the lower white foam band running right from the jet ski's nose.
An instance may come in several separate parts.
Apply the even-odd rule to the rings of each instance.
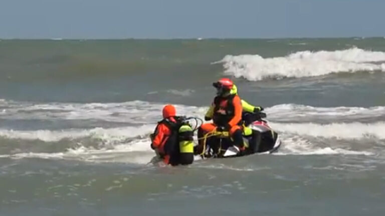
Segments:
[[[364,137],[385,139],[385,122],[330,124],[270,122],[270,125],[272,128],[275,128],[280,132],[299,134],[303,136],[337,139],[360,139]]]

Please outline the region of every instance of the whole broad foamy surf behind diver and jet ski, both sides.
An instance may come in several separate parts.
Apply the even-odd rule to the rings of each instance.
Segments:
[[[146,101],[121,103],[31,103],[0,100],[0,119],[97,119],[92,128],[17,130],[0,128],[8,145],[0,157],[58,158],[86,161],[148,162],[154,153],[148,134],[159,120],[163,104]],[[203,116],[207,107],[177,105],[178,114]],[[352,150],[350,141],[325,145],[322,139],[385,139],[385,107],[313,107],[278,104],[266,108],[268,120],[283,141],[278,154],[364,154],[370,147]],[[370,122],[362,122],[371,119]],[[325,120],[322,123],[321,119]],[[344,120],[350,119],[349,122]],[[105,121],[120,122],[104,127]],[[36,148],[28,145],[39,145]],[[56,145],[62,147],[57,148]]]

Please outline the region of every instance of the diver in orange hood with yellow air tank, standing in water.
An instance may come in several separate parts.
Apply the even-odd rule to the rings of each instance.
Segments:
[[[151,148],[166,164],[193,163],[193,129],[181,116],[176,116],[173,105],[165,105],[162,112],[163,119],[158,122],[154,133],[150,135]]]

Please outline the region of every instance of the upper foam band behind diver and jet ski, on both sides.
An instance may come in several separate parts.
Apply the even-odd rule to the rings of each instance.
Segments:
[[[190,91],[188,91],[190,92]],[[175,93],[175,92],[174,92]],[[187,92],[178,92],[184,94]],[[111,122],[147,124],[161,118],[165,103],[128,101],[121,103],[31,103],[0,100],[2,119],[96,119]],[[178,115],[204,116],[208,107],[175,105]],[[269,119],[304,119],[306,117],[376,117],[385,116],[385,106],[312,107],[300,104],[279,104],[267,107]]]

